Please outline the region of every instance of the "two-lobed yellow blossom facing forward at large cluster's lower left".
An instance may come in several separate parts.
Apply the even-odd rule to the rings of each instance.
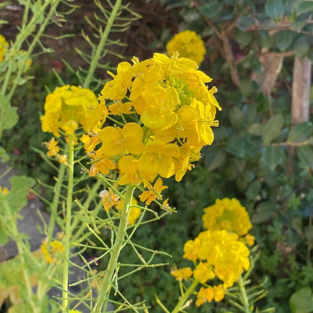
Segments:
[[[108,156],[120,154],[124,149],[133,154],[143,151],[143,131],[136,123],[127,123],[123,128],[107,126],[99,134],[103,153]]]

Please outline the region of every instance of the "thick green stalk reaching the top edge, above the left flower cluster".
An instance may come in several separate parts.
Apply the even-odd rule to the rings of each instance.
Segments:
[[[89,85],[90,85],[91,80],[92,80],[94,73],[95,73],[95,69],[97,68],[98,62],[100,60],[100,56],[103,52],[103,47],[104,47],[106,40],[109,36],[109,33],[110,33],[111,28],[113,26],[114,20],[117,16],[118,10],[121,6],[121,3],[122,3],[122,0],[116,0],[115,1],[114,8],[110,14],[110,18],[108,19],[106,26],[105,26],[103,35],[101,36],[101,39],[100,39],[100,42],[97,46],[95,54],[92,55],[90,67],[89,67],[88,74],[86,76],[85,83],[84,83],[84,88],[89,88]]]

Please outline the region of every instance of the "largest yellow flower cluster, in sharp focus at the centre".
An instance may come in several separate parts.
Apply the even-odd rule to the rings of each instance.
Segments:
[[[221,108],[213,96],[216,88],[208,90],[205,85],[211,78],[197,70],[196,62],[179,58],[178,53],[172,58],[155,53],[142,62],[134,57],[132,62],[121,62],[116,75],[108,72],[113,79],[105,84],[100,105],[87,119],[90,129],[112,120],[112,115],[121,116],[124,123],[113,119],[119,126],[90,131],[84,140],[90,151],[101,144],[91,154],[97,162],[90,176],[108,174],[118,166],[118,183],[143,182],[149,191],[141,200],[148,204],[162,199],[160,192],[166,188],[162,180],[153,187],[150,182],[159,175],[180,181],[194,166],[191,162],[199,160],[202,146],[212,143],[211,126],[218,126],[214,119],[216,108]],[[105,99],[113,104],[107,107]],[[137,122],[126,122],[124,115]]]

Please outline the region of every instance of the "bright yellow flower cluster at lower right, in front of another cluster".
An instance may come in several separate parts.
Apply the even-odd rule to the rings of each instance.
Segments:
[[[205,283],[217,276],[224,288],[231,287],[243,270],[250,267],[250,251],[238,240],[236,233],[227,230],[204,231],[184,245],[183,258],[197,261],[193,277]]]

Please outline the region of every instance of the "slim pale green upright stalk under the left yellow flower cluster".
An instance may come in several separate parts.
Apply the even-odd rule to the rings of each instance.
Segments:
[[[68,306],[68,288],[69,288],[69,250],[72,220],[72,202],[73,202],[73,182],[74,181],[74,134],[69,137],[69,158],[68,158],[68,189],[66,198],[66,217],[65,217],[65,239],[64,239],[64,267],[63,267],[63,310],[67,311]]]

